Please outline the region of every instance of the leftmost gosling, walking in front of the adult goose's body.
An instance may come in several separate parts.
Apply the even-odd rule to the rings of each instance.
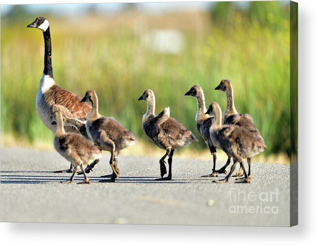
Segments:
[[[84,183],[90,183],[84,172],[84,165],[88,165],[95,159],[100,159],[101,150],[92,141],[83,138],[77,133],[66,133],[64,130],[62,114],[56,111],[53,116],[57,128],[54,138],[54,148],[67,161],[72,163],[73,175],[70,180],[61,181],[62,183],[73,182],[77,173],[78,166],[84,173]]]

